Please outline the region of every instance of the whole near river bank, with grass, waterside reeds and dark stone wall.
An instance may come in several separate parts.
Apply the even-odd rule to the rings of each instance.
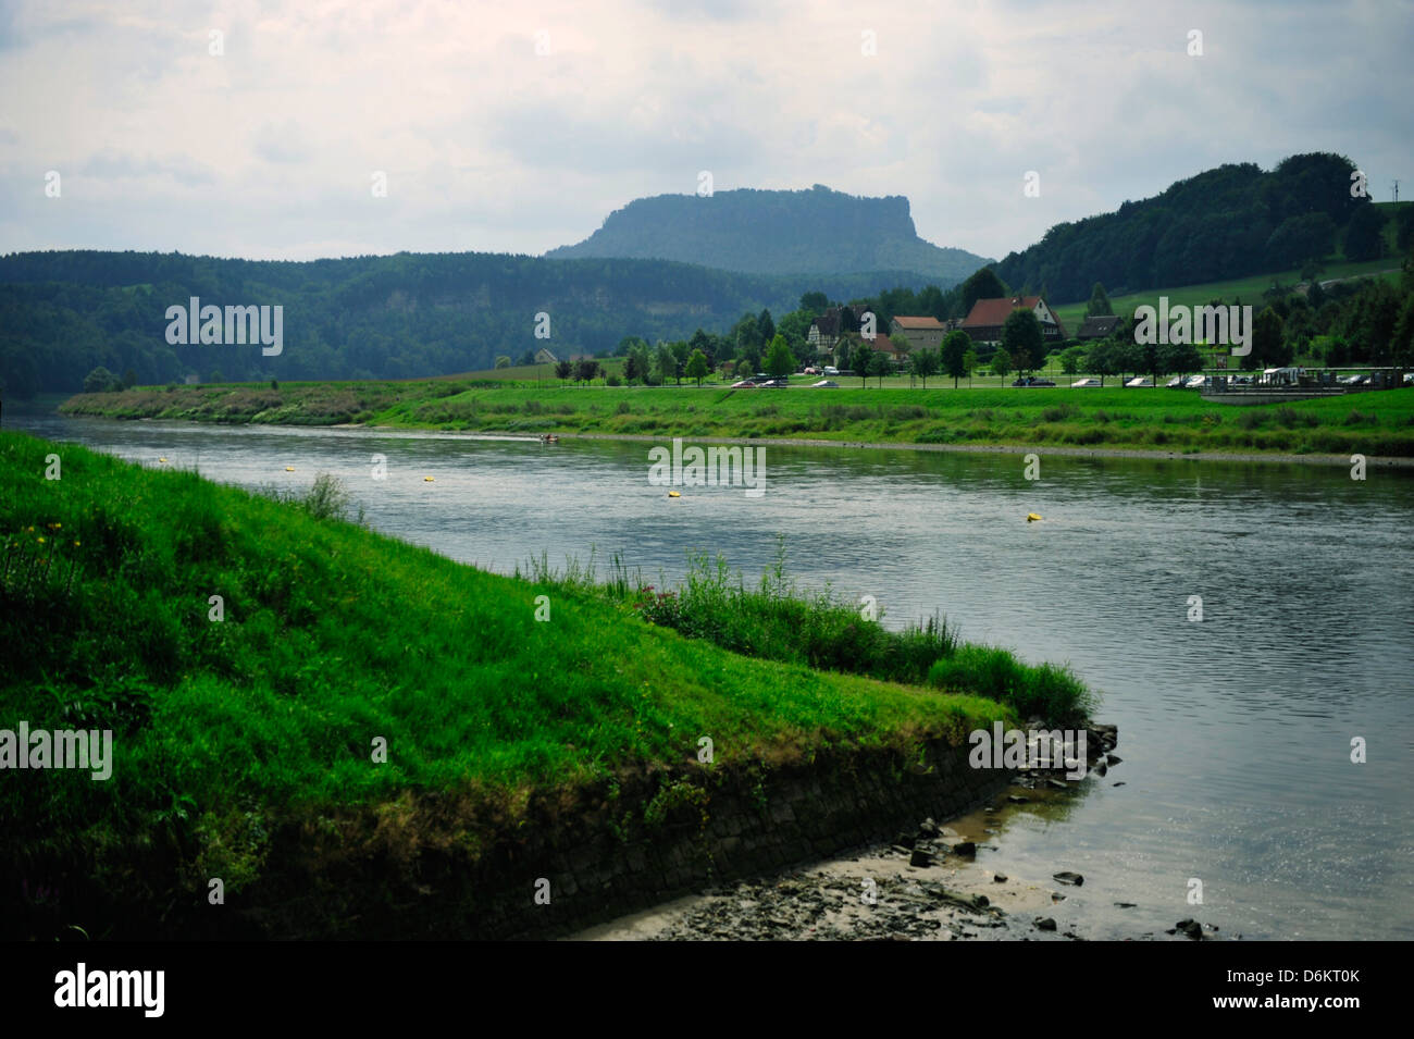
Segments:
[[[962,811],[1010,775],[969,732],[1087,701],[779,570],[502,577],[341,519],[327,479],[250,495],[16,433],[0,478],[0,728],[117,736],[110,782],[0,787],[11,937],[560,933]]]

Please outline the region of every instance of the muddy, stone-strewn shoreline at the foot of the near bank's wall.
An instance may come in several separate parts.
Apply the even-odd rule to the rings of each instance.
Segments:
[[[1086,782],[1124,786],[1100,755],[1068,783],[1032,769],[978,809],[940,824],[921,820],[892,841],[769,875],[732,881],[578,930],[574,941],[1212,941],[1240,939],[1208,919],[1169,919],[1174,908],[1103,903],[1126,923],[1099,933],[1102,903],[1058,858],[1049,875],[1012,871],[997,835],[1008,813],[1051,797],[1083,796]],[[1113,762],[1113,763],[1111,763]],[[1100,896],[1096,896],[1100,898]],[[1200,910],[1199,910],[1200,912]],[[1133,924],[1127,920],[1133,917]]]

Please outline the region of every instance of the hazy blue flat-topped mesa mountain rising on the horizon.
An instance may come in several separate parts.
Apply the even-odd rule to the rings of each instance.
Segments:
[[[549,259],[663,259],[752,274],[916,271],[945,287],[990,263],[918,236],[908,199],[809,191],[658,195],[609,213],[584,242]]]

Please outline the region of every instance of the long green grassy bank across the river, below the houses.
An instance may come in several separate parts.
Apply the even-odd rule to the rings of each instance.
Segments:
[[[1236,407],[1169,389],[492,387],[455,379],[79,394],[65,414],[205,423],[1414,457],[1414,390]]]

